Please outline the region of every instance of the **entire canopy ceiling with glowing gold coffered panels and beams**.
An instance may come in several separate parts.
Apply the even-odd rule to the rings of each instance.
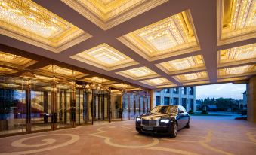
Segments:
[[[0,8],[1,74],[147,89],[256,74],[254,0],[2,0]]]

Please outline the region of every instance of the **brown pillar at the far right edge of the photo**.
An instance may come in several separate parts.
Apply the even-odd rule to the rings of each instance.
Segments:
[[[247,84],[247,120],[256,123],[256,76]]]

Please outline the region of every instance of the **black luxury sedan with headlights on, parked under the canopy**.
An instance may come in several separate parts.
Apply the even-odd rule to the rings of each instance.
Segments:
[[[136,130],[177,136],[177,130],[190,128],[190,115],[181,105],[159,105],[149,113],[136,117]]]

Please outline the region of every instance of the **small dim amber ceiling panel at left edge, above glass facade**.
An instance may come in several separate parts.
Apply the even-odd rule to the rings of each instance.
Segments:
[[[12,65],[13,67],[19,66],[22,68],[26,68],[29,65],[35,64],[36,61],[22,56],[17,56],[15,54],[0,51],[0,62],[3,65]]]

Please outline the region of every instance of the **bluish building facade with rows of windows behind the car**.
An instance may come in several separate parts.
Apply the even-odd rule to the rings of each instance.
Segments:
[[[196,111],[196,87],[175,87],[156,90],[153,106],[182,105],[187,111]]]

